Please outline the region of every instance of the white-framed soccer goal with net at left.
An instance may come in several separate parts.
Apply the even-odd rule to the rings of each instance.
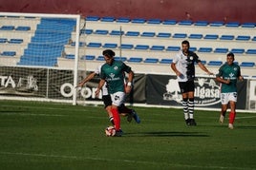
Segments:
[[[76,104],[82,22],[72,14],[0,12],[0,98]]]

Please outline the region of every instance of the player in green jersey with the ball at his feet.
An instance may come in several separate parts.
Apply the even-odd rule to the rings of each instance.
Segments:
[[[116,136],[121,136],[122,131],[120,129],[120,118],[117,108],[124,103],[125,93],[131,92],[134,72],[130,66],[126,66],[123,62],[114,59],[115,52],[113,50],[104,50],[103,56],[106,63],[101,66],[101,79],[96,89],[96,96],[98,96],[100,89],[106,82],[112,99],[111,112],[114,118]],[[125,72],[128,73],[127,85],[124,85],[123,82]]]

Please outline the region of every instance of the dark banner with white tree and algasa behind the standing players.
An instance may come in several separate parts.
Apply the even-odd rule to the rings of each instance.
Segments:
[[[181,106],[181,90],[176,76],[147,76],[147,104]],[[246,81],[238,84],[238,108],[245,109],[245,91]],[[221,106],[220,85],[214,78],[197,77],[195,79],[195,106],[209,108]]]

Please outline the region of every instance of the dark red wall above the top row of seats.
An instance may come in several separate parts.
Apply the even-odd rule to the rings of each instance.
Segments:
[[[256,22],[252,0],[0,0],[0,11]]]

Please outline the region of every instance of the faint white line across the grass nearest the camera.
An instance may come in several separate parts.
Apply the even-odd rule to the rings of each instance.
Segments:
[[[113,161],[119,162],[129,162],[129,163],[140,163],[140,164],[166,164],[170,166],[186,167],[186,168],[207,168],[207,169],[236,169],[244,170],[245,167],[224,167],[224,166],[206,166],[196,165],[196,164],[179,164],[170,162],[159,162],[159,161],[133,161],[133,160],[117,160],[117,159],[103,159],[103,158],[93,158],[93,157],[76,157],[76,156],[65,156],[65,155],[48,155],[48,154],[36,154],[36,153],[22,153],[22,152],[4,152],[0,151],[1,155],[15,155],[15,156],[28,156],[28,157],[43,157],[43,158],[57,158],[57,159],[72,159],[72,160],[92,160],[92,161]],[[246,168],[250,169],[250,168]]]

